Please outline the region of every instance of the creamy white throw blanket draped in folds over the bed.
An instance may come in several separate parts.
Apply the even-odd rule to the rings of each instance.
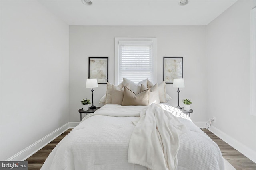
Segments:
[[[176,170],[179,135],[186,129],[177,117],[151,104],[140,114],[132,132],[128,162],[150,170]]]

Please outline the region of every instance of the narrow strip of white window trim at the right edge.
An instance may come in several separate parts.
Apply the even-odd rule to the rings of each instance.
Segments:
[[[251,10],[250,113],[256,116],[256,8]]]

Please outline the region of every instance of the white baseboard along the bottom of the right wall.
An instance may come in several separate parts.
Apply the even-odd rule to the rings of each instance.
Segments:
[[[211,126],[209,129],[212,133],[214,133],[216,136],[218,136],[220,139],[228,143],[231,147],[241,152],[244,156],[252,160],[256,163],[256,152],[252,149],[248,148],[246,145],[240,143],[236,139],[232,138],[230,135],[224,133],[220,129]]]

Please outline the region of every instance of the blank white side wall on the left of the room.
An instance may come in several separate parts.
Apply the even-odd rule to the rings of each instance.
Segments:
[[[69,121],[68,25],[35,0],[0,1],[0,160]]]

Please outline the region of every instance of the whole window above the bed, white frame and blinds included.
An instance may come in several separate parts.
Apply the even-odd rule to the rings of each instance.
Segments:
[[[115,38],[115,84],[156,82],[156,38]]]

